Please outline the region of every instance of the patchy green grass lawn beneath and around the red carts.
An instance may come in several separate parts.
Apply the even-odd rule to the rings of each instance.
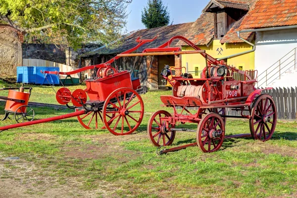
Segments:
[[[8,85],[0,82],[3,86]],[[71,91],[78,88],[84,86],[70,86]],[[272,140],[265,143],[228,139],[214,153],[191,147],[156,155],[147,135],[148,118],[159,109],[172,112],[159,107],[159,96],[168,94],[142,96],[144,120],[128,136],[86,130],[76,118],[0,133],[0,198],[297,197],[297,122],[279,121]],[[33,86],[31,101],[57,103],[47,86]],[[72,112],[33,108],[36,119]],[[13,123],[0,121],[0,126]],[[240,133],[249,133],[248,122],[227,120],[226,135]],[[195,133],[180,132],[172,147],[191,142],[196,142]]]

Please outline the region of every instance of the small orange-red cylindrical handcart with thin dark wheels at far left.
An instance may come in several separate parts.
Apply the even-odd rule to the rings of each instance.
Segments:
[[[28,106],[28,101],[31,96],[32,87],[20,87],[20,88],[1,88],[2,90],[9,90],[8,97],[0,96],[0,99],[6,100],[5,115],[1,119],[15,119],[16,122],[29,122],[34,119],[34,110]],[[29,90],[29,92],[24,92]],[[9,117],[12,115],[12,117]]]

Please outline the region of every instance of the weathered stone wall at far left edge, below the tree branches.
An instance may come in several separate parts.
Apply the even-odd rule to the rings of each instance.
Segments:
[[[23,35],[7,25],[0,25],[0,74],[16,75],[16,67],[22,65]]]

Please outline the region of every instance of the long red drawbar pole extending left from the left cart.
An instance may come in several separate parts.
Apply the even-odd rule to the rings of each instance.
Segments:
[[[62,119],[66,119],[66,118],[71,118],[71,117],[75,117],[78,115],[83,115],[86,113],[86,110],[80,110],[80,111],[76,111],[73,113],[68,113],[65,115],[59,115],[59,116],[55,116],[55,117],[50,117],[50,118],[45,118],[45,119],[40,119],[40,120],[34,120],[31,122],[23,122],[23,123],[18,123],[18,124],[12,124],[12,125],[8,125],[8,126],[4,126],[4,127],[0,127],[0,131],[4,131],[7,129],[13,129],[13,128],[19,128],[19,127],[25,127],[25,126],[30,126],[30,125],[34,125],[34,124],[40,124],[40,123],[45,123],[45,122],[51,122],[51,121],[55,121],[55,120],[62,120]]]

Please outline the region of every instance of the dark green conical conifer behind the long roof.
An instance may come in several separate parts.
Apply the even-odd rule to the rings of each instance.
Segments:
[[[168,25],[170,14],[162,0],[148,0],[141,14],[141,22],[146,28],[156,28]]]

